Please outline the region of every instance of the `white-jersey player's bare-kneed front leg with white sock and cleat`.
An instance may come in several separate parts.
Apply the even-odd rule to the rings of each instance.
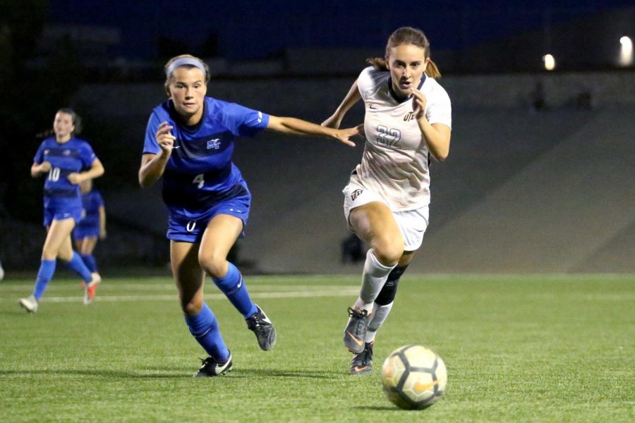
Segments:
[[[404,252],[404,239],[392,212],[383,202],[369,202],[351,210],[349,226],[370,248],[362,274],[359,298],[349,308],[344,345],[352,353],[363,353],[373,304],[386,279]]]

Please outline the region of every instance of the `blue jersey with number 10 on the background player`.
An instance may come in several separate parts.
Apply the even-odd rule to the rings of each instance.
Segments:
[[[81,207],[79,185],[73,185],[68,175],[91,168],[96,159],[92,147],[79,138],[72,137],[62,144],[55,137],[42,141],[33,161],[37,164],[49,161],[51,164],[44,180],[44,208]]]

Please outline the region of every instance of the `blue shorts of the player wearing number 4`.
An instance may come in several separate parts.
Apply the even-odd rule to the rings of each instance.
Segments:
[[[196,220],[181,216],[170,216],[167,238],[169,240],[183,241],[186,243],[200,243],[205,228],[207,228],[207,223],[210,223],[210,220],[218,214],[229,214],[229,216],[241,219],[244,228],[247,226],[247,219],[249,219],[250,203],[251,196],[245,195],[216,204]],[[241,237],[244,235],[244,232],[241,233]]]

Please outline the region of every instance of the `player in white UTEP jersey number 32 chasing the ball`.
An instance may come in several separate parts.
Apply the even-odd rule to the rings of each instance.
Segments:
[[[399,28],[388,39],[385,59],[369,63],[322,123],[339,128],[346,111],[363,99],[365,149],[343,191],[349,228],[370,247],[344,330],[351,374],[372,369],[375,333],[428,226],[430,156],[446,159],[452,126],[449,97],[434,79],[440,73],[421,30]]]

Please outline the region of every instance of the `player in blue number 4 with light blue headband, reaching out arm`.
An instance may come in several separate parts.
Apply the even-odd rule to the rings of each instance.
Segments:
[[[296,118],[281,118],[234,103],[205,97],[207,65],[188,54],[165,66],[169,99],[155,107],[145,133],[139,183],[145,188],[163,177],[163,200],[169,209],[172,274],[181,309],[192,335],[209,357],[195,376],[217,376],[231,369],[216,317],[203,301],[205,274],[246,319],[262,350],[270,350],[276,331],[249,297],[240,271],[227,253],[243,232],[251,195],[231,162],[234,137],[262,130],[322,135],[354,146],[357,128],[337,130]]]

